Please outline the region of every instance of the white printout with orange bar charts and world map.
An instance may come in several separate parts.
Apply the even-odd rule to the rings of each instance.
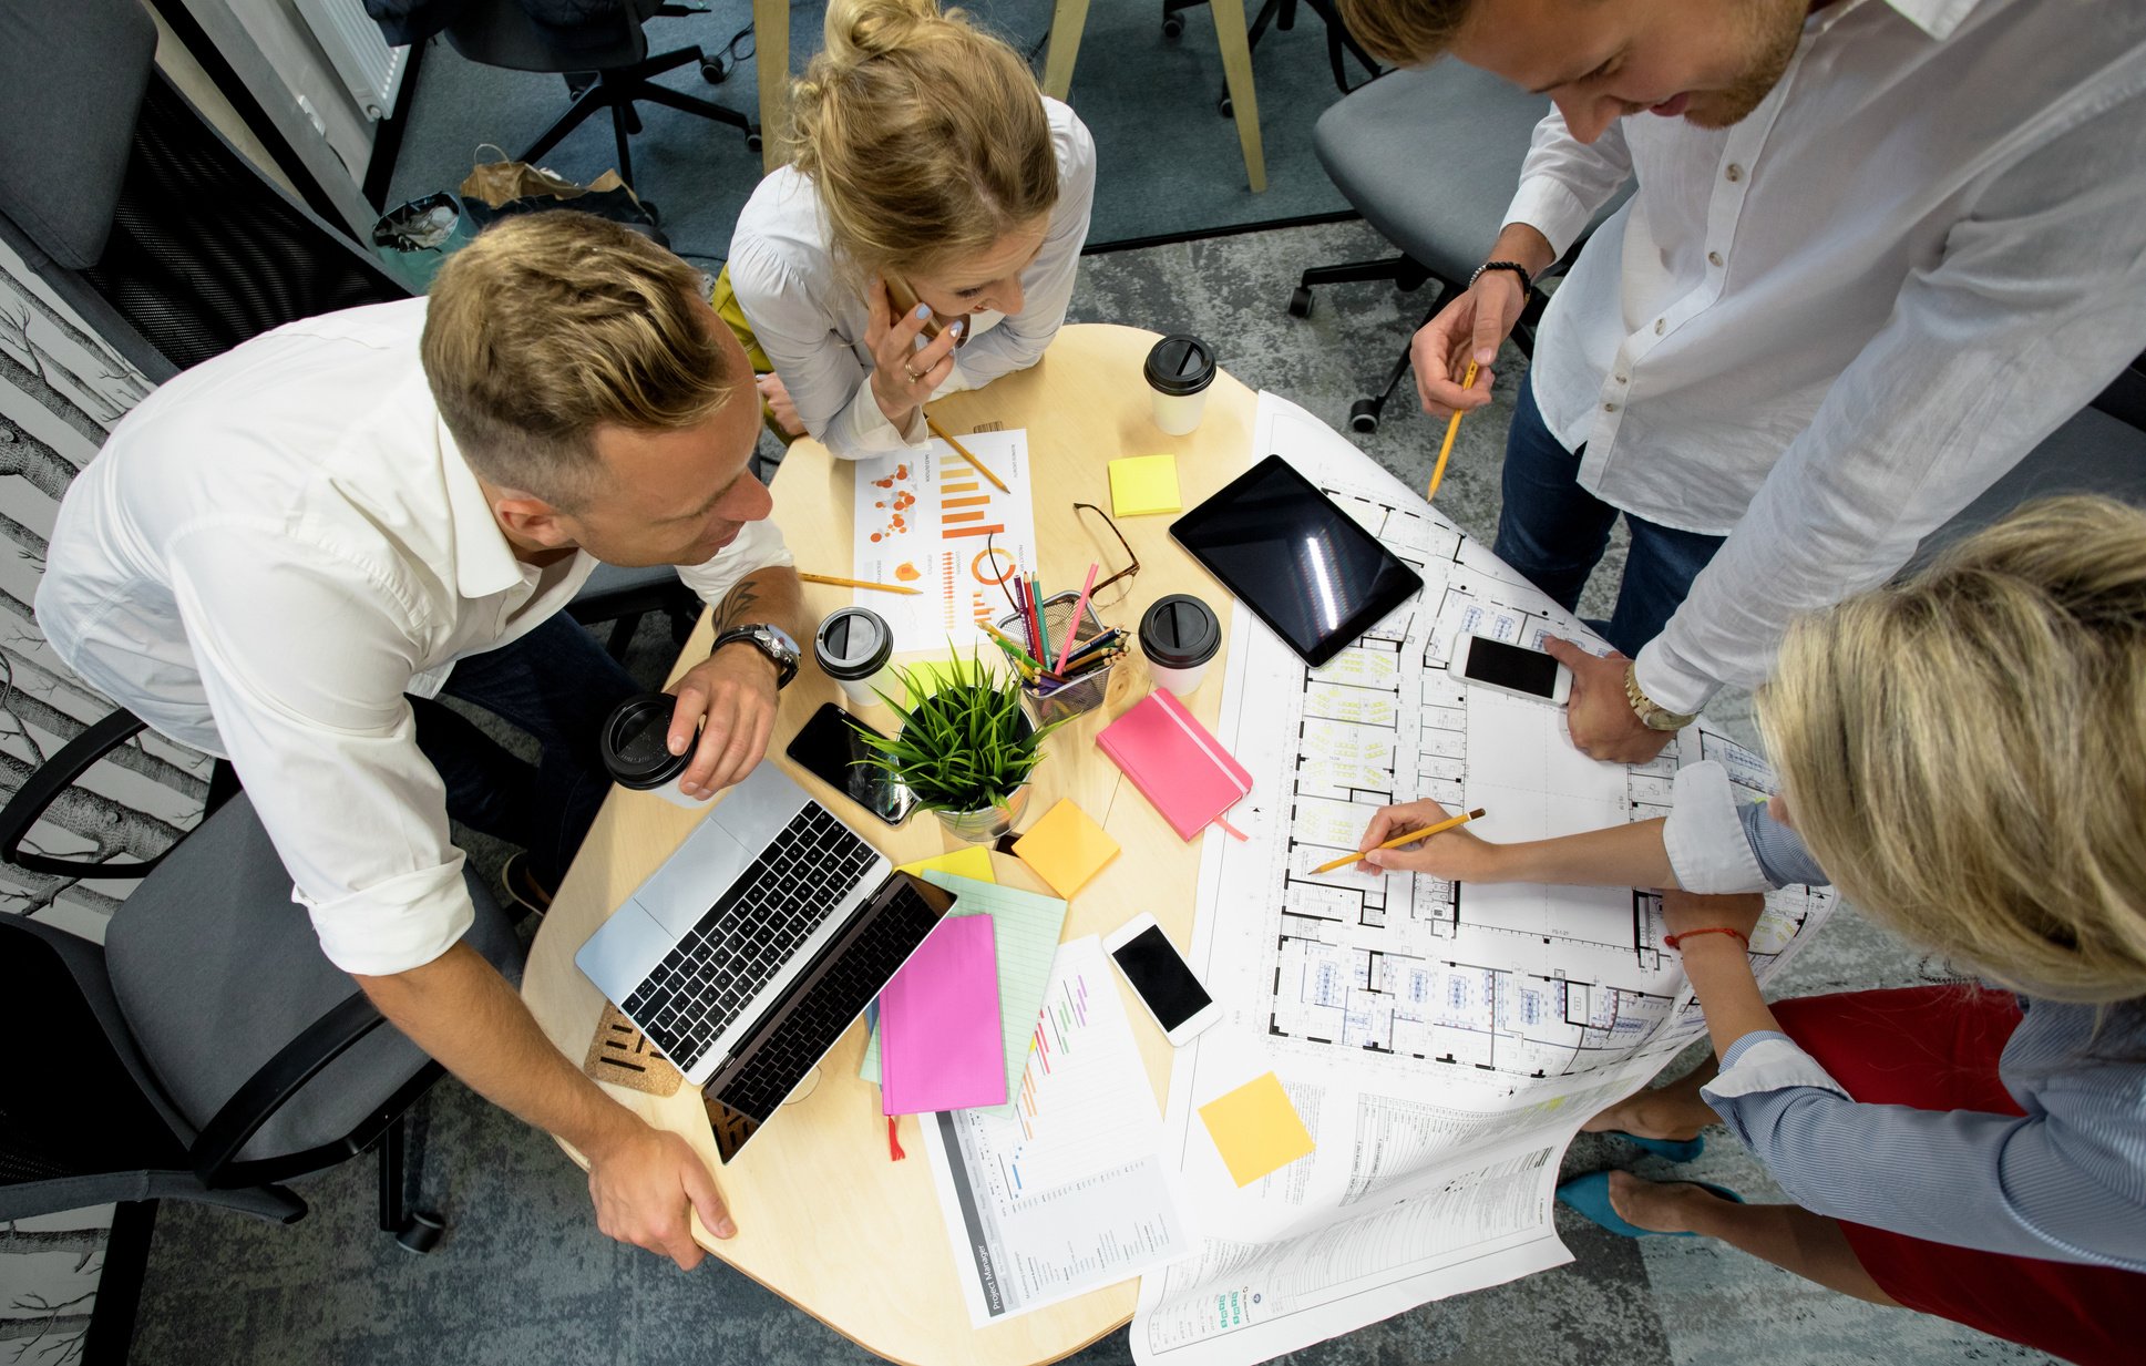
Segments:
[[[1004,493],[942,440],[856,461],[852,577],[921,590],[856,590],[856,605],[893,626],[897,654],[985,643],[976,622],[1011,611],[1004,581],[1037,564],[1028,431],[976,431],[961,444]]]

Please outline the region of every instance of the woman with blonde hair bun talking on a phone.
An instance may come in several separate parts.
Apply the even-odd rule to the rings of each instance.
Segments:
[[[715,307],[785,437],[929,440],[925,399],[1028,369],[1064,322],[1094,139],[936,0],[835,0],[796,154],[738,214]]]

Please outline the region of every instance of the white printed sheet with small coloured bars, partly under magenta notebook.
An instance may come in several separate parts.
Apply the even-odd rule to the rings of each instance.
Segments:
[[[1011,1119],[923,1115],[976,1327],[1191,1252],[1161,1113],[1097,937],[1058,948]]]

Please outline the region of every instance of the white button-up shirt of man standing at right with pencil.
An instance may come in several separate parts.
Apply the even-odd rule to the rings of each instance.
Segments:
[[[1534,397],[1579,482],[1728,534],[1640,686],[1755,684],[2146,347],[2146,4],[1839,0],[1743,122],[1552,112],[1509,223],[1560,253]]]

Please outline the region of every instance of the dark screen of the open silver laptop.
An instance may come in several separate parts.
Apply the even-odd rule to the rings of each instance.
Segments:
[[[826,965],[783,1016],[777,1029],[745,1059],[734,1077],[723,1081],[717,1100],[753,1119],[768,1119],[813,1064],[835,1046],[871,997],[880,995],[916,946],[923,944],[940,916],[916,894],[906,877],[873,907],[871,918]]]

